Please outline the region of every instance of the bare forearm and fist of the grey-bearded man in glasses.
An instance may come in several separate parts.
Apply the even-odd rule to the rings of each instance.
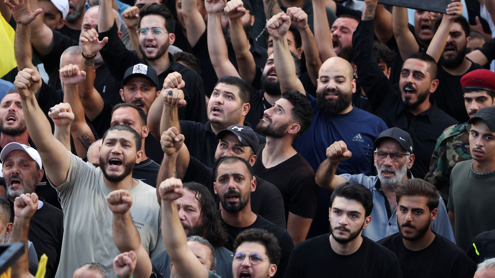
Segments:
[[[327,148],[327,159],[323,160],[316,172],[315,182],[321,188],[334,190],[347,180],[341,176],[335,175],[337,167],[341,161],[347,160],[352,153],[347,150],[347,144],[344,141],[334,142]]]

